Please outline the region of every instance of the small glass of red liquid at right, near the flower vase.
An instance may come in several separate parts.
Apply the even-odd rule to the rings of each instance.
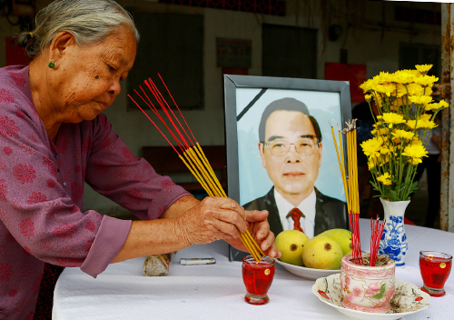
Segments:
[[[451,271],[452,255],[438,251],[419,252],[419,269],[424,285],[422,291],[431,296],[445,295],[444,285]]]

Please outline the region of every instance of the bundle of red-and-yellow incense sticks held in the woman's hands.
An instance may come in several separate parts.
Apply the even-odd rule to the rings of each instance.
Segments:
[[[159,75],[159,74],[158,74]],[[160,105],[161,109],[163,110],[165,117],[167,117],[168,122],[170,122],[170,125],[165,121],[165,118],[160,115],[158,112],[158,109],[153,105],[152,100],[150,97],[145,93],[145,90],[143,90],[142,86],[140,87],[140,90],[142,91],[142,94],[139,93],[137,90],[134,89],[134,92],[136,95],[138,95],[143,103],[145,105],[148,105],[148,107],[153,111],[153,114],[157,116],[159,121],[163,123],[165,128],[169,131],[169,134],[172,135],[173,140],[176,143],[176,146],[174,146],[170,140],[167,138],[166,135],[164,135],[163,131],[156,125],[156,123],[152,120],[152,118],[145,113],[143,108],[133,99],[131,95],[128,95],[129,98],[133,101],[135,105],[139,107],[139,109],[142,110],[143,115],[145,115],[148,120],[152,122],[152,124],[158,129],[158,131],[163,135],[165,140],[173,147],[173,150],[176,152],[176,154],[182,159],[184,165],[188,167],[188,169],[191,171],[192,175],[195,176],[197,181],[202,185],[203,189],[206,191],[208,195],[211,196],[221,196],[221,197],[226,197],[227,195],[225,194],[224,190],[222,189],[222,185],[219,182],[219,179],[217,176],[214,174],[214,171],[212,170],[212,166],[210,165],[208,159],[204,155],[202,151],[202,147],[199,145],[197,140],[195,139],[194,135],[192,135],[191,128],[189,125],[186,123],[186,120],[184,119],[184,116],[182,112],[180,111],[180,108],[178,105],[176,105],[175,100],[173,99],[172,94],[170,93],[167,85],[165,85],[163,78],[161,75],[159,75],[159,78],[163,82],[163,85],[165,86],[165,89],[167,90],[167,93],[170,95],[173,105],[176,107],[178,110],[178,113],[187,129],[184,128],[182,125],[182,122],[180,121],[179,117],[173,113],[172,108],[169,106],[169,104],[165,101],[163,95],[161,92],[158,90],[157,86],[154,85],[153,80],[149,78],[148,80],[144,81],[144,84],[146,87],[150,90],[150,92],[153,94],[154,99]],[[188,135],[188,132],[191,134],[192,138],[190,135]],[[180,152],[177,150],[179,149]],[[249,230],[246,230],[244,233],[241,235],[242,239],[242,244],[246,246],[248,249],[249,253],[254,257],[256,261],[262,261],[261,255],[265,255],[262,252],[262,249],[260,246],[255,242],[253,239],[252,235],[250,234]]]

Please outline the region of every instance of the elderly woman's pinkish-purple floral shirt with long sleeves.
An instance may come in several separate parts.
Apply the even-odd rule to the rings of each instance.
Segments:
[[[95,277],[122,248],[132,222],[82,212],[84,182],[143,220],[188,195],[138,160],[105,115],[62,125],[54,145],[28,67],[0,68],[0,319],[33,319],[44,262]]]

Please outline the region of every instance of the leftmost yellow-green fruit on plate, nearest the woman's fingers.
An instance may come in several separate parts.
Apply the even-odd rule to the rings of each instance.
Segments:
[[[274,244],[281,251],[281,261],[291,265],[302,265],[302,248],[309,236],[300,230],[284,230],[276,236]]]

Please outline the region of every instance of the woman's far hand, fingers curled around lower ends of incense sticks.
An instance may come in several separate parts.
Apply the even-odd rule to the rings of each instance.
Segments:
[[[248,225],[248,230],[252,237],[255,239],[256,243],[260,245],[263,253],[269,255],[272,258],[281,257],[281,252],[276,249],[274,245],[274,234],[270,230],[270,225],[268,224],[268,211],[245,211],[246,213],[246,224]],[[241,238],[231,238],[225,239],[225,241],[237,248],[238,250],[248,252],[248,249],[245,245],[242,244]]]

